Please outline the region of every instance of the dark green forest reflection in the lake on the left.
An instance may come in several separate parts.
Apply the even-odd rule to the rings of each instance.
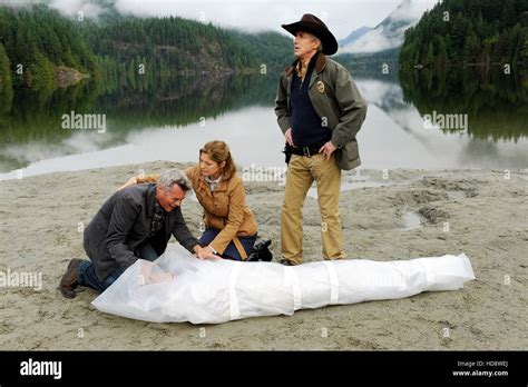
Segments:
[[[228,111],[274,100],[271,77],[188,78],[146,90],[108,91],[85,82],[58,89],[45,102],[27,90],[16,97],[9,115],[0,115],[0,170],[67,155],[108,149],[127,141],[137,130],[202,126]],[[62,115],[106,115],[105,133],[65,130]],[[101,162],[104,162],[101,160]]]

